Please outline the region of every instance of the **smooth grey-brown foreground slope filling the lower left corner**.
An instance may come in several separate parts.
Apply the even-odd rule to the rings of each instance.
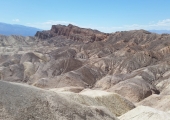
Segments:
[[[0,96],[1,120],[118,120],[104,107],[28,85],[0,81]]]

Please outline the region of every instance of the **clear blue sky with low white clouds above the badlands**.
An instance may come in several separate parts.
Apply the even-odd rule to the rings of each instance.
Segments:
[[[102,32],[170,30],[170,0],[0,0],[0,22],[48,30],[73,24]]]

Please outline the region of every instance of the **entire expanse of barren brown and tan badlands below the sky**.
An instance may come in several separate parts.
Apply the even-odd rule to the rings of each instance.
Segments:
[[[69,24],[0,35],[0,119],[169,120],[170,35]]]

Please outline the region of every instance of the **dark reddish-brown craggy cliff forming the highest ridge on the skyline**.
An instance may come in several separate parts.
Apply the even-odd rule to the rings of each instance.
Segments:
[[[53,25],[51,30],[37,32],[36,37],[40,39],[47,39],[55,36],[65,36],[67,39],[83,42],[103,41],[109,34],[102,33],[97,30],[80,28],[69,24],[65,25]]]

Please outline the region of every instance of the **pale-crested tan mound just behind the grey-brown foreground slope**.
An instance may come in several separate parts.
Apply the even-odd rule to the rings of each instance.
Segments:
[[[52,91],[60,92],[59,89],[52,89]],[[126,100],[122,96],[114,93],[109,93],[101,90],[85,89],[80,93],[62,92],[62,96],[67,97],[77,103],[86,106],[103,106],[116,116],[120,116],[129,110],[135,108],[135,105]]]

